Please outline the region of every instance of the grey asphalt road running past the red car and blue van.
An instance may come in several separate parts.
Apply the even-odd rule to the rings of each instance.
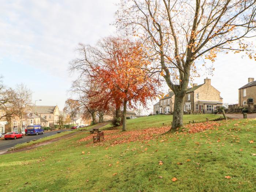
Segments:
[[[63,132],[67,130],[48,131],[48,132],[45,132],[44,134],[39,134],[39,135],[27,135],[27,136],[24,135],[23,138],[19,138],[15,140],[14,139],[0,140],[0,152],[3,150],[7,150],[8,148],[14,147],[16,144],[26,143],[28,141],[31,141],[32,139],[40,139],[46,136],[55,135],[57,134],[58,131]]]

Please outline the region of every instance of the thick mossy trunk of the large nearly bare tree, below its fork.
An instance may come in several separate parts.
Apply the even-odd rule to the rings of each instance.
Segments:
[[[171,129],[180,128],[183,124],[183,104],[185,93],[175,94],[174,109],[173,109],[173,123]]]

